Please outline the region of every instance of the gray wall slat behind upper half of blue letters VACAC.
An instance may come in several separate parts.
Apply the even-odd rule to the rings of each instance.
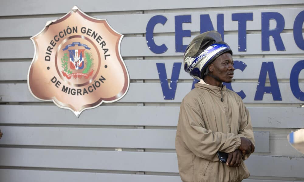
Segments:
[[[278,79],[289,79],[290,72],[295,63],[304,58],[268,58],[268,59],[234,59],[242,61],[247,67],[242,72],[235,70],[233,79],[258,79],[263,62],[273,62]],[[156,63],[165,63],[167,78],[171,79],[172,66],[175,62],[181,62],[179,59],[157,59],[157,60],[125,60],[130,79],[159,79]],[[288,62],[289,64],[286,64]],[[145,64],[143,67],[142,64]],[[0,72],[1,80],[26,80],[28,68],[31,62],[0,62],[0,68],[6,68]],[[138,70],[142,70],[139,72]],[[248,74],[252,73],[252,74]],[[179,79],[193,79],[181,66]],[[304,72],[300,72],[299,79],[304,79]]]

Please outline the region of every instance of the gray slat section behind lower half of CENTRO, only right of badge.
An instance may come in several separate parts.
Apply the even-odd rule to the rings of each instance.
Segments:
[[[302,34],[304,35],[304,33]],[[184,38],[183,44],[188,45],[191,38]],[[303,50],[299,49],[295,44],[292,33],[281,33],[282,41],[286,51],[277,51],[273,40],[270,38],[270,51],[262,51],[261,49],[261,34],[247,34],[247,51],[238,51],[238,35],[225,35],[225,42],[229,44],[233,50],[233,55],[264,55],[264,54],[302,54]],[[154,37],[157,45],[165,44],[168,50],[163,54],[155,54],[147,46],[145,37],[126,37],[121,43],[122,56],[183,56],[184,53],[175,52],[175,37],[174,36],[157,36]],[[254,42],[254,43],[248,43]],[[23,43],[23,42],[22,42]],[[0,45],[2,42],[0,42]]]

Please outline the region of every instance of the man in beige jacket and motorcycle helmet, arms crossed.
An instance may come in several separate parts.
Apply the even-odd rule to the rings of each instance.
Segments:
[[[188,45],[184,66],[200,82],[185,96],[179,113],[175,147],[181,179],[232,182],[249,177],[243,161],[254,152],[249,112],[240,96],[223,86],[233,78],[230,47],[216,31],[200,34]],[[225,163],[218,151],[228,153]]]

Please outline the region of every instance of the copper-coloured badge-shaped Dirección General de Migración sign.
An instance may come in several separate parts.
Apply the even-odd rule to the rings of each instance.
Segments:
[[[130,84],[120,55],[122,38],[106,20],[92,18],[76,6],[47,22],[31,37],[35,55],[28,74],[30,92],[76,116],[103,102],[116,102]]]

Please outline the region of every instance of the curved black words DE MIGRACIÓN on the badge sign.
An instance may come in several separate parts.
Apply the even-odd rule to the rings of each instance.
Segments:
[[[94,92],[94,90],[98,89],[101,86],[101,84],[104,83],[104,81],[105,81],[105,77],[100,76],[100,78],[98,80],[94,80],[94,82],[92,82],[92,85],[88,86],[88,88],[74,89],[63,85],[61,91],[69,95],[71,94],[71,95],[83,96],[85,94]],[[51,79],[51,82],[54,83],[57,88],[59,88],[59,86],[61,85],[61,82],[57,80],[56,76],[54,76]]]

